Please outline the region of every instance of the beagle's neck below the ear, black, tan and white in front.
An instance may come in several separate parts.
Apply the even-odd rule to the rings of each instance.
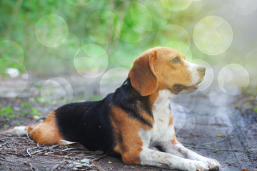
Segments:
[[[153,120],[157,120],[162,115],[164,116],[165,113],[170,112],[169,98],[171,95],[171,90],[156,90],[151,95],[141,96],[131,85],[130,79],[127,78],[124,84],[120,88],[117,88],[114,93],[113,103],[124,110],[130,111],[137,118],[138,116],[141,117],[143,110],[153,117]],[[150,120],[147,123],[149,126],[152,126],[152,124]]]

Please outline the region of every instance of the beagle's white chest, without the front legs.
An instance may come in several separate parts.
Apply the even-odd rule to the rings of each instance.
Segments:
[[[153,128],[141,130],[139,133],[144,144],[153,146],[160,142],[172,140],[175,133],[173,124],[171,124],[173,116],[169,107],[170,95],[171,93],[168,90],[159,92],[156,103],[153,104]]]

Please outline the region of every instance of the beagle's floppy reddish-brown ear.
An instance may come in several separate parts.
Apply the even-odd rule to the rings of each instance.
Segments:
[[[142,96],[150,95],[158,87],[158,78],[153,68],[155,57],[156,51],[139,56],[129,71],[133,88]]]

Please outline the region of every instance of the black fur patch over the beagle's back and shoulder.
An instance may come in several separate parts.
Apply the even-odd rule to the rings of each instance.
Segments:
[[[56,109],[56,123],[65,140],[80,142],[89,150],[111,152],[116,145],[110,120],[111,105],[118,106],[130,117],[152,127],[139,110],[153,117],[148,98],[134,90],[127,78],[115,93],[110,93],[103,100],[70,103]]]

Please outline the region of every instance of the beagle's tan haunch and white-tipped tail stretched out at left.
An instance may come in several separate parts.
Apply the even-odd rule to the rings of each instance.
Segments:
[[[11,133],[16,136],[26,136],[39,144],[53,145],[62,140],[61,133],[56,125],[55,112],[51,112],[44,123],[29,126],[17,126],[8,130],[2,131],[0,134]]]

